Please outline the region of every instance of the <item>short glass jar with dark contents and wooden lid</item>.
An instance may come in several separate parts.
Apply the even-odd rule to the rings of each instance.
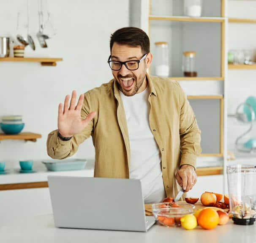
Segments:
[[[196,77],[196,52],[184,51],[183,52],[183,74],[185,77]]]

